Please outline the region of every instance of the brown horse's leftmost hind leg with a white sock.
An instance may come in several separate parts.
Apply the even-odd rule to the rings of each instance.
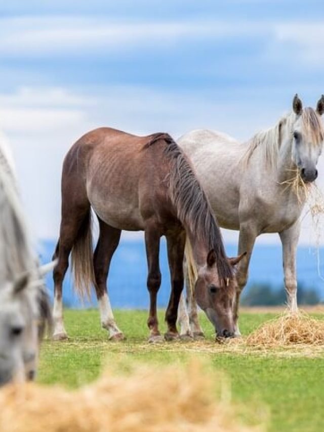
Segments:
[[[53,271],[54,279],[54,307],[53,340],[67,339],[67,333],[63,322],[63,302],[62,285],[66,270],[68,268],[68,258],[80,229],[82,229],[85,218],[89,215],[90,204],[74,209],[73,206],[66,206],[62,203],[62,220],[60,226],[60,238],[57,243],[53,259],[58,259],[58,263]]]

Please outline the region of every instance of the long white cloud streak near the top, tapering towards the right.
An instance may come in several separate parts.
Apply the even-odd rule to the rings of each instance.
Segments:
[[[29,16],[0,20],[0,54],[62,56],[105,52],[119,53],[135,46],[166,46],[201,37],[222,40],[228,36],[264,33],[259,22],[224,20],[112,21],[91,17]]]

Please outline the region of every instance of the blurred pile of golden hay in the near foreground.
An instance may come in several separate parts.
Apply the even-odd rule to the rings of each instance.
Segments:
[[[105,372],[75,391],[26,384],[0,390],[1,432],[215,432],[244,426],[227,391],[216,399],[201,365],[142,367],[127,376]],[[218,377],[218,381],[219,381]],[[243,411],[244,413],[244,411]],[[247,418],[247,416],[246,416]]]

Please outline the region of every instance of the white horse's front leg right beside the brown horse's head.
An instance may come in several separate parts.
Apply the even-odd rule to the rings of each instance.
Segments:
[[[238,328],[238,308],[239,308],[239,297],[241,295],[242,290],[246,286],[248,282],[248,274],[249,274],[249,264],[250,259],[255,243],[255,239],[257,238],[257,230],[253,224],[244,223],[240,224],[239,227],[239,240],[238,240],[238,255],[242,253],[247,253],[245,257],[243,257],[237,266],[236,273],[236,281],[237,281],[237,289],[236,296],[233,305],[233,319],[234,319],[234,334],[236,337],[240,336],[240,331]]]

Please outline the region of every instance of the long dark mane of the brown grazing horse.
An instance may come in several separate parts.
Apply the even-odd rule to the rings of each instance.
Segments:
[[[189,227],[196,237],[206,243],[209,250],[214,249],[218,276],[220,281],[226,281],[233,277],[233,270],[226,258],[222,234],[207,195],[186,155],[169,134],[151,135],[144,148],[148,148],[160,140],[167,143],[164,153],[171,161],[170,198],[177,209],[178,218]]]

